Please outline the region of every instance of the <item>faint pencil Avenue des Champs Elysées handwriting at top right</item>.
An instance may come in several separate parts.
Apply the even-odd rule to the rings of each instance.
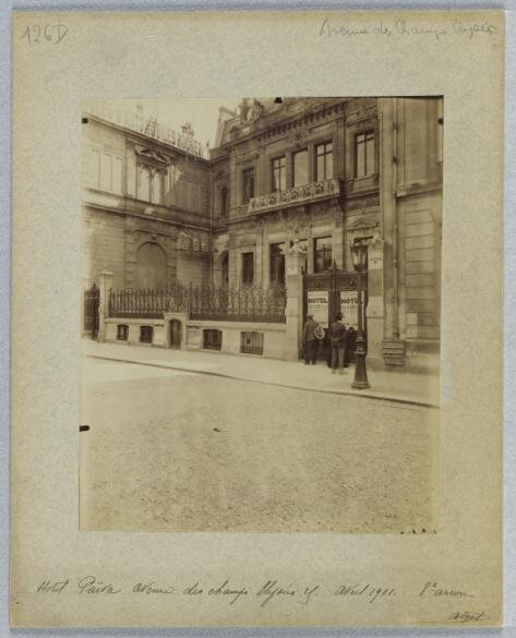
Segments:
[[[473,39],[478,37],[493,36],[497,28],[489,22],[465,22],[455,19],[449,23],[439,25],[413,24],[407,20],[386,21],[380,19],[374,25],[360,25],[352,23],[337,23],[325,17],[320,27],[319,35],[324,38],[336,36],[355,38],[360,36],[380,37],[430,37],[442,40],[449,37],[463,37]]]

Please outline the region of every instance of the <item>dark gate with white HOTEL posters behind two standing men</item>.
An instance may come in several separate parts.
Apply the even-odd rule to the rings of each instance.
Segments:
[[[361,281],[360,277],[362,277]],[[335,321],[336,315],[341,313],[346,327],[352,328],[348,332],[346,360],[355,361],[359,288],[363,291],[363,338],[367,349],[368,273],[347,273],[334,267],[325,273],[303,276],[303,322],[310,313],[324,328],[324,339],[320,341],[317,359],[329,361],[332,348],[327,328],[328,324]]]

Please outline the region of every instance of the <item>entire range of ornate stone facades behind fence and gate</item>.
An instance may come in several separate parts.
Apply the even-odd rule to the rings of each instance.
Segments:
[[[314,274],[365,240],[369,354],[439,353],[442,98],[244,98],[209,158],[86,117],[86,286],[268,288],[293,241]]]

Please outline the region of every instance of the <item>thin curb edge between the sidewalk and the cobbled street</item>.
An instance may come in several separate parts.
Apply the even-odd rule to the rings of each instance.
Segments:
[[[233,381],[244,381],[248,383],[260,383],[263,385],[274,385],[276,387],[285,387],[285,388],[290,388],[290,389],[301,389],[301,390],[307,390],[307,392],[313,392],[313,393],[323,393],[323,394],[329,394],[329,395],[345,395],[345,396],[350,396],[350,397],[364,397],[368,399],[380,399],[382,401],[391,401],[394,404],[405,404],[405,405],[409,405],[409,406],[418,406],[420,408],[432,408],[432,409],[439,409],[439,406],[435,404],[432,404],[430,401],[421,401],[421,400],[417,400],[417,399],[411,399],[409,397],[393,397],[391,395],[384,395],[381,393],[371,393],[371,392],[364,392],[364,390],[350,390],[350,389],[341,389],[341,390],[336,390],[336,389],[327,389],[327,388],[313,388],[313,387],[305,387],[302,385],[290,385],[290,384],[286,384],[286,383],[277,383],[274,381],[263,381],[260,378],[249,378],[245,376],[236,376],[232,374],[227,374],[224,372],[213,372],[211,370],[192,370],[190,368],[180,368],[178,365],[169,365],[169,364],[160,364],[160,363],[147,363],[145,361],[135,361],[132,359],[118,359],[117,357],[101,357],[99,354],[86,354],[86,357],[88,359],[99,359],[103,361],[118,361],[119,363],[131,363],[134,365],[146,365],[148,368],[160,368],[164,370],[178,370],[180,372],[187,372],[190,374],[204,374],[206,376],[218,376],[221,378],[231,378]]]

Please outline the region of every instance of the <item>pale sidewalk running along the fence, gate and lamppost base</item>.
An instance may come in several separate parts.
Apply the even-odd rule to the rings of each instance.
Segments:
[[[98,344],[89,339],[83,339],[83,356],[312,392],[439,407],[440,386],[436,374],[405,370],[368,370],[371,387],[357,390],[351,387],[355,374],[352,364],[346,369],[346,374],[339,375],[332,374],[322,361],[317,365],[304,365],[302,361],[278,361],[253,354],[166,350],[125,344]]]

